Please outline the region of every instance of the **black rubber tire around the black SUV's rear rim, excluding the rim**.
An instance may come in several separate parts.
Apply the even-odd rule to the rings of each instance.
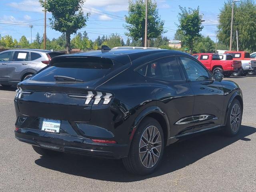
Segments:
[[[143,164],[140,161],[139,145],[140,145],[140,138],[144,130],[146,130],[148,126],[152,126],[152,125],[158,128],[160,132],[161,139],[162,139],[162,147],[161,147],[161,152],[160,152],[158,162],[156,162],[156,164],[152,168],[146,168],[143,166]],[[136,134],[134,134],[134,138],[133,138],[133,141],[130,147],[130,152],[129,152],[129,155],[132,156],[132,161],[133,161],[133,165],[135,167],[136,172],[141,175],[152,173],[158,167],[160,161],[162,160],[163,154],[164,154],[164,132],[162,130],[162,127],[158,123],[158,121],[156,121],[154,118],[145,118],[144,120],[142,120],[142,122],[138,126]]]

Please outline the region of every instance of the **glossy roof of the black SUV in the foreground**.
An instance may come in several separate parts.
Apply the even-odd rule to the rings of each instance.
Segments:
[[[184,52],[176,51],[176,50],[166,50],[166,49],[131,49],[131,48],[123,48],[123,49],[112,49],[110,51],[101,50],[98,51],[88,51],[88,52],[77,52],[73,54],[66,54],[57,57],[86,57],[86,56],[94,56],[94,57],[102,57],[102,58],[110,58],[113,60],[122,61],[122,63],[131,62],[137,58],[150,56],[152,54],[157,53],[165,53],[168,55],[189,55]],[[191,56],[191,55],[189,55]]]

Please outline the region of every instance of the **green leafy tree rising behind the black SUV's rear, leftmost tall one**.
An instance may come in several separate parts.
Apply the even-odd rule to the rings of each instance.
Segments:
[[[84,0],[40,0],[41,5],[52,13],[50,24],[54,30],[65,33],[66,51],[70,53],[70,35],[86,26],[89,13],[84,16]]]

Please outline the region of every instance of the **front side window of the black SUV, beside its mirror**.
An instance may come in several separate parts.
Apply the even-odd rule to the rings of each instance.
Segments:
[[[180,57],[180,60],[186,70],[186,73],[188,74],[189,80],[198,81],[210,79],[208,71],[198,62],[187,57]]]

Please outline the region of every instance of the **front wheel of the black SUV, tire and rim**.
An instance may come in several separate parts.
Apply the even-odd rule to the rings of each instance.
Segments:
[[[227,136],[235,136],[240,130],[242,122],[242,108],[241,104],[237,99],[234,99],[228,110],[228,118],[226,126],[224,128],[224,133]]]

